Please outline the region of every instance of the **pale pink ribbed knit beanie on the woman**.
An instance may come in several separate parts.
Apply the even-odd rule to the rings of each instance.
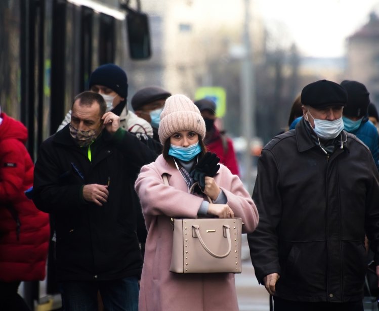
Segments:
[[[205,138],[205,122],[199,109],[185,95],[173,95],[166,99],[158,128],[159,140],[162,145],[165,141],[182,130],[193,130]]]

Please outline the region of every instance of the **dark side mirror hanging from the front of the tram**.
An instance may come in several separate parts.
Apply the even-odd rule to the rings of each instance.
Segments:
[[[129,9],[127,26],[130,57],[136,60],[150,58],[150,32],[147,15]]]

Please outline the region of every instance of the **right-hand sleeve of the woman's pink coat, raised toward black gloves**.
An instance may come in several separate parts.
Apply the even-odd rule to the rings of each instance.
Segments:
[[[228,169],[223,170],[223,179],[228,180],[228,187],[220,188],[223,190],[229,207],[233,210],[235,217],[241,217],[244,225],[243,233],[252,232],[257,228],[259,215],[258,210],[250,195],[243,187],[237,175],[232,174]]]

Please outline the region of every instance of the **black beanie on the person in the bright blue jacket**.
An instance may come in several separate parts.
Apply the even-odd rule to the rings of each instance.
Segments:
[[[343,114],[348,117],[363,117],[367,115],[369,94],[366,86],[357,81],[344,80],[341,85],[348,93],[348,104],[344,108]]]

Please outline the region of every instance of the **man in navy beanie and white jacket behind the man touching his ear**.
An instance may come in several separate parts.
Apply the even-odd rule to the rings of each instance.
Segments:
[[[92,92],[103,96],[107,103],[107,111],[112,111],[120,116],[121,128],[132,133],[153,137],[151,125],[128,110],[128,77],[122,68],[115,64],[99,66],[90,76],[89,88]],[[70,123],[70,120],[71,110],[66,114],[58,130]]]

